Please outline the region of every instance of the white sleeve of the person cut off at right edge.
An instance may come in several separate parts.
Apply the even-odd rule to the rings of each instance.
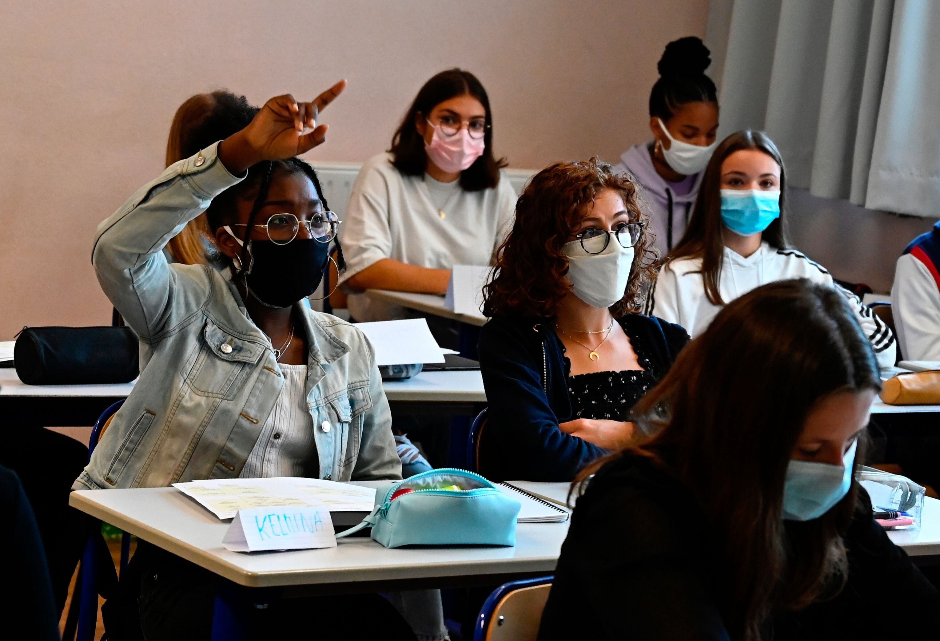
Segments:
[[[940,361],[940,287],[913,254],[898,258],[891,307],[901,356],[908,361]]]

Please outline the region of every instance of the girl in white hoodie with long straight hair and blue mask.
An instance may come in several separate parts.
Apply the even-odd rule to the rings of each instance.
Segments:
[[[744,293],[776,280],[808,278],[838,289],[861,323],[882,367],[893,366],[890,328],[842,289],[787,234],[787,172],[766,133],[732,133],[714,150],[689,227],[669,253],[646,308],[693,337]]]

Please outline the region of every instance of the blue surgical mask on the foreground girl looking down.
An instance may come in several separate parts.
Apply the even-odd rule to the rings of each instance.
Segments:
[[[852,444],[841,465],[815,461],[790,461],[783,486],[783,518],[812,521],[833,508],[852,487],[855,448]]]

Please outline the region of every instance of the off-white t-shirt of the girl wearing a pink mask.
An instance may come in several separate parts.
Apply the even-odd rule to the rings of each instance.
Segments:
[[[432,269],[491,264],[512,227],[516,194],[509,180],[503,176],[492,189],[466,192],[459,180],[404,176],[391,158],[369,158],[352,184],[339,226],[347,265],[339,284],[383,258]],[[406,317],[402,307],[365,294],[351,294],[349,310],[356,321]]]

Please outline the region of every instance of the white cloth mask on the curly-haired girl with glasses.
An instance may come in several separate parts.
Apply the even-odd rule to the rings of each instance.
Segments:
[[[585,242],[603,243],[603,238],[598,236]],[[603,308],[623,298],[634,264],[633,247],[623,247],[611,234],[600,254],[588,254],[581,241],[566,242],[562,251],[568,257],[568,282],[575,296],[587,305]]]

